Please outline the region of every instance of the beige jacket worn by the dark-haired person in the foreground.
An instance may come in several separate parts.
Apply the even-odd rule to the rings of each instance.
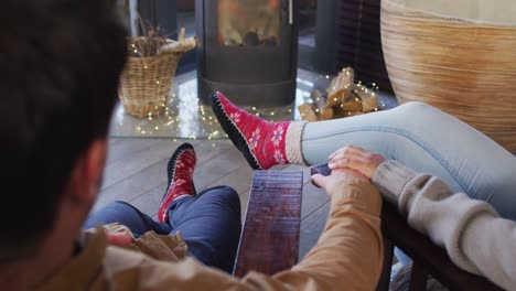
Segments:
[[[376,187],[361,182],[332,195],[316,246],[290,270],[235,278],[186,256],[181,235],[147,233],[131,246],[106,245],[104,231],[40,290],[374,290],[383,246]]]

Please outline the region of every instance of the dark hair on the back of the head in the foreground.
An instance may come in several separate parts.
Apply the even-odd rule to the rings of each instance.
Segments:
[[[110,0],[6,0],[0,17],[0,261],[52,229],[73,165],[105,139],[127,58]]]

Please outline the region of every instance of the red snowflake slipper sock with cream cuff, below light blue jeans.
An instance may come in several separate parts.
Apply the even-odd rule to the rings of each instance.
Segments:
[[[277,164],[304,164],[301,134],[304,122],[269,122],[232,104],[223,94],[212,95],[212,109],[228,134],[255,169],[270,169]]]

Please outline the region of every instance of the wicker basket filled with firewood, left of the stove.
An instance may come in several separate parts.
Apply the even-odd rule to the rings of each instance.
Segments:
[[[126,112],[143,118],[163,110],[182,53],[164,53],[129,57],[118,94]]]

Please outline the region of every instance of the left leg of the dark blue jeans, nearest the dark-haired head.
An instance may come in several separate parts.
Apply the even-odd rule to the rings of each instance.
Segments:
[[[88,229],[97,225],[111,223],[119,223],[129,227],[137,238],[150,230],[154,230],[160,235],[168,235],[172,229],[169,224],[157,223],[149,215],[121,201],[110,203],[100,211],[92,213],[84,223],[83,228]]]

